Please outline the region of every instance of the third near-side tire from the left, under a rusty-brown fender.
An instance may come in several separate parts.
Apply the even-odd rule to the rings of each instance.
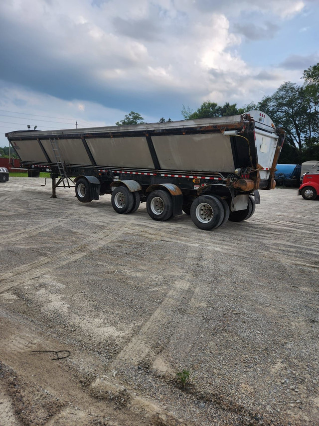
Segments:
[[[151,192],[146,200],[146,209],[153,220],[169,219],[173,214],[171,195],[161,189]]]

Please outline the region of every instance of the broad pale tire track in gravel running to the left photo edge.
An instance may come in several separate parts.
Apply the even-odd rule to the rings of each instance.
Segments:
[[[124,233],[124,230],[116,230],[110,233],[105,230],[98,235],[92,235],[86,238],[81,244],[73,249],[67,249],[59,252],[58,258],[51,256],[42,256],[34,262],[16,267],[13,271],[2,275],[0,279],[0,293],[11,287],[16,287],[35,277],[51,272],[70,262],[74,262],[88,253],[95,251],[111,241],[116,240]]]

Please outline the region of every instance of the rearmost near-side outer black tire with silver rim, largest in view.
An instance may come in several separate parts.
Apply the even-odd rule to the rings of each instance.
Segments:
[[[209,231],[221,225],[224,219],[224,207],[217,197],[201,195],[190,208],[190,217],[199,229]]]

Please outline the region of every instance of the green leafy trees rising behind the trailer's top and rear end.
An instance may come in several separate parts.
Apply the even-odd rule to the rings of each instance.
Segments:
[[[223,117],[260,110],[268,114],[276,127],[282,127],[286,139],[280,154],[282,164],[301,164],[308,160],[319,160],[319,63],[305,69],[303,84],[286,81],[272,95],[264,96],[260,102],[251,102],[242,108],[225,102],[218,105],[204,101],[195,111],[182,105],[181,114],[185,120],[196,118]],[[171,121],[160,118],[159,122]],[[141,124],[141,114],[131,111],[117,125]]]

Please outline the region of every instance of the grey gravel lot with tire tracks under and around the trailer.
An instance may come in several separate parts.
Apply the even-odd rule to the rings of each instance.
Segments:
[[[206,232],[43,183],[0,184],[0,425],[319,425],[319,200]]]

